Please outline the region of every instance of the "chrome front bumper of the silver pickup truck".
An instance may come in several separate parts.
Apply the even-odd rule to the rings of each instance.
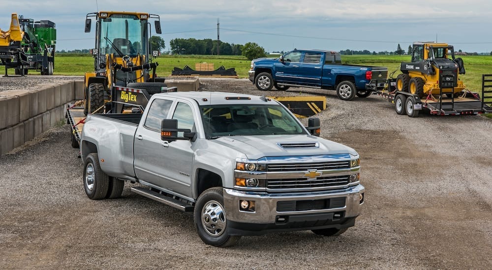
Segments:
[[[263,223],[275,226],[279,216],[309,216],[320,214],[343,213],[343,219],[355,218],[362,210],[361,197],[364,194],[364,187],[357,185],[343,190],[326,190],[316,192],[291,192],[291,193],[262,193],[239,191],[235,189],[224,189],[224,207],[227,211],[227,220],[238,223]],[[305,211],[277,211],[277,203],[295,204],[302,201],[315,201],[327,199],[345,199],[344,206],[329,209],[305,210]],[[242,200],[254,201],[254,212],[240,210]],[[309,203],[309,202],[308,202]],[[336,218],[335,218],[336,219]],[[336,220],[333,220],[337,223]],[[332,222],[332,223],[333,223]],[[343,222],[343,220],[340,220]],[[281,224],[279,224],[281,226]],[[297,228],[299,229],[299,228]]]

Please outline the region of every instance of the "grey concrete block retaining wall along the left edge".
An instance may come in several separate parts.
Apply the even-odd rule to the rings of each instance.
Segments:
[[[66,105],[83,96],[84,81],[0,92],[0,156],[55,126]]]

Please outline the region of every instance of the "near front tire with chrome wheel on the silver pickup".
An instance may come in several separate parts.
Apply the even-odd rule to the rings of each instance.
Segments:
[[[227,214],[222,192],[222,187],[205,190],[198,197],[193,213],[198,236],[204,243],[218,247],[233,245],[241,238],[227,233]]]

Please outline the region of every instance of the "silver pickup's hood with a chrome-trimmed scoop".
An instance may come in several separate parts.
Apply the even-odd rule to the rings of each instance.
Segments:
[[[343,144],[311,135],[224,136],[214,140],[256,160],[263,157],[351,154],[357,152]]]

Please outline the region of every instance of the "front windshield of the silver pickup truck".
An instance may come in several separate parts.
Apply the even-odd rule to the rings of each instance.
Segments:
[[[292,113],[279,105],[207,105],[200,109],[207,138],[307,134]]]

